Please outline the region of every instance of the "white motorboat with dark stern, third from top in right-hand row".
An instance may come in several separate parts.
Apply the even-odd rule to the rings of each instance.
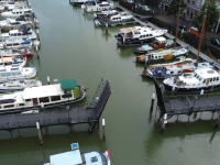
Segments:
[[[98,15],[97,19],[95,19],[96,25],[117,25],[117,24],[123,24],[127,22],[133,21],[133,15],[128,14],[127,12],[119,12],[118,14],[112,15]]]

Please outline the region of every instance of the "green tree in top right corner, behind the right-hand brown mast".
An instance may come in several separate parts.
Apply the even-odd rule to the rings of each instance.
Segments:
[[[206,12],[205,32],[213,30],[220,16],[219,10],[217,9],[216,6],[216,0],[206,0],[200,12],[194,19],[195,25],[197,26],[199,32],[201,32],[206,9],[207,12]]]

